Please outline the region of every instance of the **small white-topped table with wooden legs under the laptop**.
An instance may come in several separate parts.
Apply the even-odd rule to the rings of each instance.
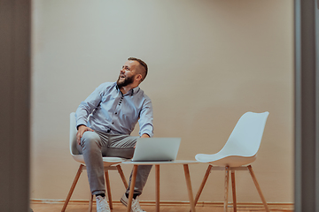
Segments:
[[[129,194],[128,194],[128,212],[130,212],[131,206],[132,206],[132,200],[133,200],[133,193],[134,193],[134,187],[136,184],[136,171],[138,165],[154,165],[155,166],[155,199],[156,199],[156,212],[159,212],[159,165],[168,165],[168,164],[183,164],[185,179],[186,179],[186,186],[187,191],[189,195],[189,200],[191,204],[191,211],[196,212],[195,210],[195,202],[193,198],[193,193],[191,189],[191,176],[190,176],[190,170],[189,170],[189,164],[190,163],[198,163],[197,161],[187,161],[187,160],[175,160],[175,161],[168,161],[168,162],[132,162],[130,160],[122,162],[122,164],[133,164],[133,173],[132,173],[132,179],[131,184],[129,187]]]

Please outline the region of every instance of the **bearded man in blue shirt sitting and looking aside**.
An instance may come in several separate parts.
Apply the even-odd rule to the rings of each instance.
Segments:
[[[89,187],[97,199],[97,212],[111,211],[105,198],[102,156],[131,158],[137,137],[130,136],[138,121],[139,135],[153,135],[152,102],[138,85],[147,75],[147,64],[129,57],[116,82],[105,82],[81,102],[76,110],[78,149],[87,165]],[[141,212],[138,196],[142,193],[152,166],[139,166],[132,211]],[[130,185],[131,178],[129,178]],[[129,185],[121,202],[127,206]]]

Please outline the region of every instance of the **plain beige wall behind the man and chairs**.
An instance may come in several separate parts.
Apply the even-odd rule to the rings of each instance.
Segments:
[[[66,198],[78,168],[69,113],[140,57],[154,136],[182,137],[178,159],[219,151],[245,111],[268,110],[253,167],[268,202],[293,201],[293,1],[34,0],[33,10],[32,199]],[[194,193],[206,166],[190,167]],[[161,200],[187,201],[183,167],[161,170]],[[222,201],[222,178],[214,172],[199,201]],[[117,200],[124,187],[116,172],[111,180]],[[73,198],[88,197],[84,172]],[[154,170],[141,199],[154,200]],[[247,172],[237,200],[260,202]]]

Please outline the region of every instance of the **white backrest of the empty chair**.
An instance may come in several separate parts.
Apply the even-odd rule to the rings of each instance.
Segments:
[[[253,156],[261,146],[261,138],[269,112],[246,112],[239,118],[237,125],[230,134],[222,155]]]

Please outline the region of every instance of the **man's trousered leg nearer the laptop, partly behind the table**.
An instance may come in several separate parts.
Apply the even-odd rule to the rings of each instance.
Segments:
[[[138,137],[129,135],[113,135],[110,136],[107,147],[107,156],[118,156],[124,158],[132,158],[135,150],[136,140]],[[136,185],[134,187],[134,197],[140,195],[146,184],[147,178],[152,169],[152,165],[139,165],[136,174]],[[131,176],[129,177],[127,195],[129,193],[129,186],[131,183]]]

